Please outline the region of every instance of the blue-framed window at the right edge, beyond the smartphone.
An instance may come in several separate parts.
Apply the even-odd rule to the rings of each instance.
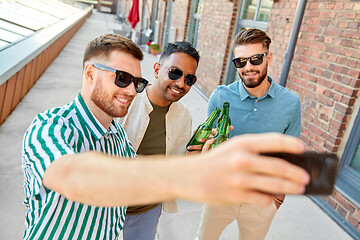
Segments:
[[[349,200],[360,206],[360,111],[341,158],[336,187]]]

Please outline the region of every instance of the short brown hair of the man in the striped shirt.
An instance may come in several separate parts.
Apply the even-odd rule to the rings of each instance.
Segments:
[[[141,49],[133,41],[118,34],[108,33],[89,42],[84,53],[83,67],[90,58],[102,54],[107,57],[115,49],[129,53],[140,61],[144,58]]]

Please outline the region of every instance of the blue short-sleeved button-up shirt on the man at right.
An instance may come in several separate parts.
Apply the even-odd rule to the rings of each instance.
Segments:
[[[242,82],[221,85],[211,94],[208,115],[215,107],[230,103],[229,115],[234,129],[230,137],[245,133],[279,132],[299,137],[301,107],[299,97],[276,84],[270,77],[270,88],[262,97],[251,96]]]

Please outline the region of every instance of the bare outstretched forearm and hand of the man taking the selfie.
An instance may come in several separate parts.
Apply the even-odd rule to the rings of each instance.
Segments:
[[[266,205],[273,194],[301,194],[309,175],[285,160],[259,153],[301,153],[303,149],[294,137],[270,133],[242,135],[204,154],[166,159],[119,161],[96,152],[71,154],[51,163],[43,185],[70,200],[96,206],[176,198],[215,205]]]

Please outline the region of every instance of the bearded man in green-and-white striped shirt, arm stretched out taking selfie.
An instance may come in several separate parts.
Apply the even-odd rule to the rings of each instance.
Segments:
[[[81,93],[38,114],[23,139],[24,239],[116,239],[127,205],[176,198],[207,204],[266,205],[272,193],[302,193],[308,174],[259,152],[300,153],[295,138],[235,137],[205,154],[142,157],[136,161],[125,116],[147,81],[141,50],[115,34],[89,43]],[[151,160],[151,161],[149,161]],[[171,160],[171,161],[169,161]]]

